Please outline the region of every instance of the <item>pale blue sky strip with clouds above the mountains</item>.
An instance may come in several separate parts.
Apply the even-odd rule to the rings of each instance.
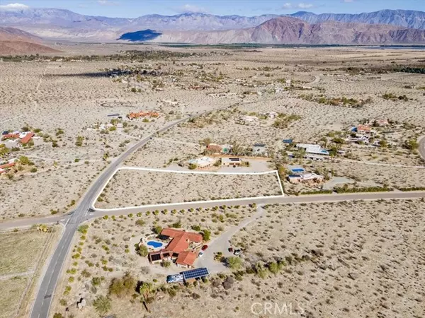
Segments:
[[[0,0],[0,10],[25,6],[67,8],[91,16],[135,18],[152,13],[174,15],[186,12],[257,16],[264,13],[283,14],[296,11],[361,13],[385,8],[425,11],[425,0]]]

